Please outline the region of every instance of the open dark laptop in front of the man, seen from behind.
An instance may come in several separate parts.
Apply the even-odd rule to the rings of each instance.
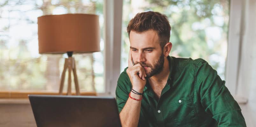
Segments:
[[[28,97],[38,127],[121,127],[114,97]]]

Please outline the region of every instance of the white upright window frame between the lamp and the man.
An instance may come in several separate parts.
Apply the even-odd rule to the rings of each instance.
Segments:
[[[98,96],[115,97],[121,65],[123,0],[104,0],[104,85]]]

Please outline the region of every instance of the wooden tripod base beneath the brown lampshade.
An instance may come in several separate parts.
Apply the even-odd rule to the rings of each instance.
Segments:
[[[61,81],[60,81],[60,91],[59,91],[60,95],[62,95],[67,68],[68,68],[68,92],[67,92],[67,95],[71,95],[71,70],[73,71],[73,74],[74,74],[76,95],[80,95],[79,85],[78,85],[78,80],[77,80],[77,75],[76,75],[76,68],[75,68],[75,58],[72,57],[72,54],[73,54],[73,52],[68,52],[68,58],[65,58],[64,69],[61,74]]]

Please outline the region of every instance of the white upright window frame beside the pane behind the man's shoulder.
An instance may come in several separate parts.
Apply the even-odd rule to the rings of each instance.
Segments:
[[[243,4],[241,0],[230,1],[228,52],[226,59],[226,86],[233,96],[237,94],[240,64],[240,44],[243,38]]]

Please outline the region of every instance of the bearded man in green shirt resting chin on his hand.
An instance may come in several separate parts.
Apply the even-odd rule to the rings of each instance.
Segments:
[[[170,30],[167,17],[152,11],[128,24],[128,68],[116,88],[122,126],[245,127],[216,70],[203,59],[169,56]]]

